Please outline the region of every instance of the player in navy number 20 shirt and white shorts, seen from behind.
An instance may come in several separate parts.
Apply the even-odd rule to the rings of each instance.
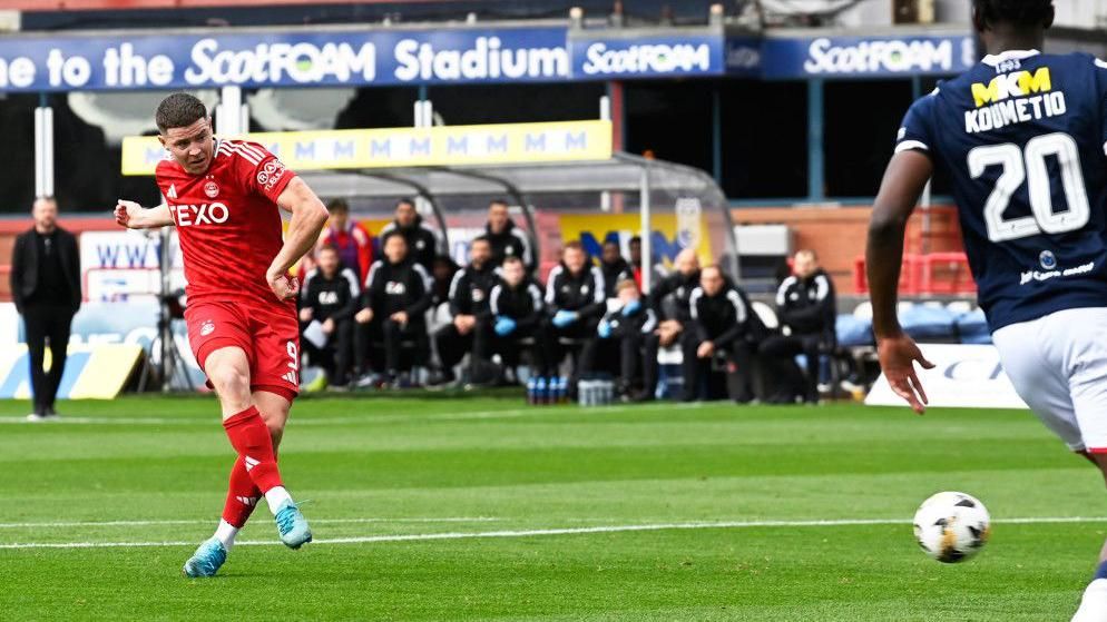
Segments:
[[[988,56],[915,101],[873,207],[881,367],[918,413],[932,367],[895,316],[903,233],[935,169],[952,181],[1003,368],[1035,414],[1107,474],[1107,65],[1046,55],[1050,0],[973,0]],[[1107,620],[1107,549],[1074,621]]]

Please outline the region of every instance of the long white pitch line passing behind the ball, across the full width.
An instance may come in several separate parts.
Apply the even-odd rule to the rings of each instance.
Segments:
[[[995,521],[1001,524],[1052,524],[1052,523],[1098,523],[1105,522],[1103,516],[1055,516],[1055,517],[1025,517]],[[354,537],[332,537],[319,539],[314,544],[370,544],[382,542],[422,542],[432,540],[469,540],[469,539],[491,539],[491,537],[536,537],[543,535],[579,535],[595,533],[623,533],[623,532],[647,532],[647,531],[673,531],[673,530],[722,530],[722,529],[751,529],[751,527],[837,527],[837,526],[865,526],[865,525],[910,525],[910,521],[902,519],[844,519],[831,521],[719,521],[719,522],[695,522],[695,523],[656,523],[641,525],[608,525],[596,527],[555,527],[543,530],[519,530],[519,531],[486,531],[486,532],[445,532],[445,533],[413,533],[399,535],[366,535]],[[274,546],[281,544],[276,541],[247,540],[235,543],[237,546]],[[195,546],[196,542],[167,541],[167,542],[25,542],[0,544],[0,550],[4,549],[129,549],[148,546]]]

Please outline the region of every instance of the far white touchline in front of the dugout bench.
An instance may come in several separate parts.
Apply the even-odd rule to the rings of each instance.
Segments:
[[[366,403],[371,404],[371,403]],[[636,406],[599,406],[591,407],[588,409],[589,415],[603,415],[611,413],[624,413],[630,411],[687,411],[703,407],[701,404],[639,404]],[[481,419],[500,419],[500,418],[518,418],[528,416],[539,416],[549,415],[557,413],[572,413],[575,411],[566,408],[560,411],[550,411],[542,408],[541,406],[532,406],[529,408],[518,408],[518,409],[503,409],[503,411],[474,411],[474,412],[461,412],[461,413],[439,413],[431,415],[381,415],[374,416],[366,414],[365,416],[352,415],[349,417],[319,417],[312,418],[311,416],[300,416],[293,417],[288,425],[293,428],[300,426],[312,426],[312,425],[343,425],[343,424],[384,424],[384,423],[419,423],[419,422],[435,422],[435,421],[481,421]],[[214,416],[214,415],[213,415]],[[26,424],[26,425],[212,425],[213,422],[207,419],[197,418],[168,418],[168,417],[86,417],[86,416],[69,416],[65,415],[58,417],[57,419],[45,421],[45,422],[28,422],[26,417],[20,416],[0,416],[0,424]]]

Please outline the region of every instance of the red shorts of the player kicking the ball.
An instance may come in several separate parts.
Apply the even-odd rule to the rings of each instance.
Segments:
[[[300,324],[295,307],[242,300],[196,303],[185,308],[185,322],[188,345],[200,369],[213,352],[239,347],[249,361],[251,391],[274,393],[290,402],[300,393]]]

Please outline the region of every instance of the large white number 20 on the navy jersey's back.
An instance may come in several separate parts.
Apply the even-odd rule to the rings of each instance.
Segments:
[[[1046,158],[1055,156],[1061,174],[1061,187],[1068,209],[1054,210],[1052,184]],[[991,166],[1002,167],[996,188],[984,204],[984,223],[988,225],[988,239],[1005,241],[1036,236],[1041,233],[1062,234],[1074,231],[1088,224],[1091,214],[1088,207],[1088,191],[1080,170],[1080,152],[1071,136],[1057,132],[1031,138],[1026,149],[1007,142],[977,147],[969,151],[969,174],[973,179],[984,174]],[[1027,182],[1032,216],[1005,218],[1011,196]]]

